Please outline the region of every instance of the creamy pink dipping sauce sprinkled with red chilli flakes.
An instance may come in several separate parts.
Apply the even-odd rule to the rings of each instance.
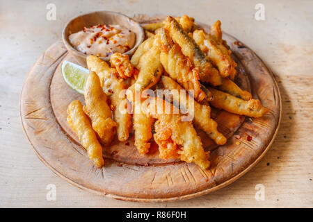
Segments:
[[[135,44],[136,35],[120,25],[97,25],[83,27],[83,31],[69,36],[75,49],[88,55],[110,56],[125,53]]]

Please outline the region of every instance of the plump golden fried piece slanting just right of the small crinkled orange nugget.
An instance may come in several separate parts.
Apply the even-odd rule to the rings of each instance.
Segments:
[[[157,36],[157,40],[159,40],[159,36]],[[141,57],[138,64],[140,71],[136,83],[127,89],[127,99],[129,101],[134,101],[135,93],[140,93],[143,89],[149,89],[155,85],[163,73],[160,62],[160,44],[159,41],[155,42],[156,44]],[[139,88],[137,89],[136,86]]]

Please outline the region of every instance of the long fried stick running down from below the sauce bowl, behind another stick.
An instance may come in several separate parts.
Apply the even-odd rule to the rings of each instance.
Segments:
[[[113,117],[117,123],[118,140],[126,141],[131,132],[131,114],[125,105],[127,100],[123,94],[126,86],[122,78],[115,75],[114,69],[97,56],[87,57],[88,69],[95,71],[100,78],[102,89],[109,96],[113,105]],[[130,78],[127,78],[127,80]]]

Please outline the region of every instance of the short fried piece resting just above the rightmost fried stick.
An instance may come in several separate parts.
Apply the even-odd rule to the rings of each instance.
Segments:
[[[229,78],[223,78],[223,84],[218,86],[218,89],[222,90],[223,92],[227,92],[233,96],[236,96],[243,100],[250,100],[252,99],[252,95],[250,92],[246,90],[242,90],[236,83],[234,83]]]

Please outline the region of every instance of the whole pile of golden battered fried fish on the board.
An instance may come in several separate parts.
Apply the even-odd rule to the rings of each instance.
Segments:
[[[222,39],[220,21],[211,26],[209,33],[198,29],[194,19],[186,15],[168,16],[144,29],[147,39],[131,60],[114,53],[109,65],[97,56],[87,57],[90,74],[84,88],[86,105],[72,101],[67,122],[97,167],[104,166],[101,144],[109,146],[115,134],[125,142],[134,128],[139,153],[149,152],[153,137],[161,158],[193,162],[207,169],[209,152],[204,151],[195,128],[203,130],[218,145],[227,142],[211,119],[210,105],[255,118],[268,110],[234,83],[237,65]],[[172,94],[170,99],[164,99],[141,96],[145,89],[186,89],[192,93]],[[193,109],[188,107],[190,104]],[[165,107],[172,112],[151,111]],[[182,110],[192,110],[193,119],[182,121],[186,115]]]

